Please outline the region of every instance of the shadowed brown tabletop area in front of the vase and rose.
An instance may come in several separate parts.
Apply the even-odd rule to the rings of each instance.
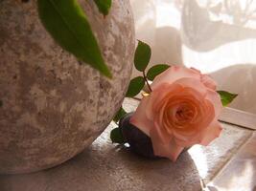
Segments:
[[[101,141],[100,141],[101,142]],[[79,156],[49,170],[0,176],[1,191],[200,190],[188,153],[177,162],[149,160],[127,149],[95,142]]]

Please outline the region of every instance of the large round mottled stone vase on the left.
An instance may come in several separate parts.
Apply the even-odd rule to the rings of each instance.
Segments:
[[[113,74],[80,65],[45,31],[36,1],[0,0],[0,173],[35,172],[89,146],[119,109],[135,47],[127,0],[81,0]]]

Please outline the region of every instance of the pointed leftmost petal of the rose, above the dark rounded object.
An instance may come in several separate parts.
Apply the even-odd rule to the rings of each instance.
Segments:
[[[138,127],[146,135],[150,136],[151,128],[153,128],[153,122],[146,116],[146,108],[149,105],[149,97],[143,97],[140,101],[136,111],[130,117],[129,122]]]

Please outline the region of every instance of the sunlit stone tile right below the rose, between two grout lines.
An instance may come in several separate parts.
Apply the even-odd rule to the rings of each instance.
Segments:
[[[195,145],[189,150],[198,168],[199,175],[205,183],[214,179],[222,167],[252,135],[251,130],[235,125],[221,123],[221,126],[223,131],[220,138],[215,139],[207,147]]]

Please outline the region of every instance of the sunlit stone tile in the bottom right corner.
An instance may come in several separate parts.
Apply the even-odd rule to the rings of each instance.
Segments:
[[[214,191],[255,191],[256,190],[256,133],[244,144],[237,155],[209,183]]]

